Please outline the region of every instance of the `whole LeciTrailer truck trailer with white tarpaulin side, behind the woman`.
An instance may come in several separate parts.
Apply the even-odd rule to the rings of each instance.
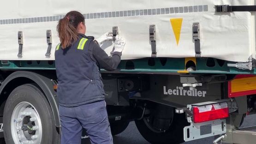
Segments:
[[[88,39],[113,31],[126,40],[118,69],[101,69],[113,136],[135,121],[150,144],[254,144],[255,127],[240,126],[256,113],[255,5],[1,0],[0,144],[60,144],[56,27],[72,10],[85,17]],[[101,48],[111,56],[113,41]],[[81,141],[89,144],[85,130]]]

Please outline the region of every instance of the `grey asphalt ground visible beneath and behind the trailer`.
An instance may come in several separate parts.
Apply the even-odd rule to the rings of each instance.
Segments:
[[[244,119],[242,127],[256,126],[256,115],[248,115]],[[182,144],[213,144],[214,137],[202,138]],[[138,132],[134,122],[131,122],[127,129],[114,136],[114,144],[150,144]]]

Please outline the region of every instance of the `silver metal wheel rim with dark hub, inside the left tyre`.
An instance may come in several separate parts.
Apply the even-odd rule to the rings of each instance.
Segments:
[[[42,123],[35,107],[28,102],[17,104],[12,112],[12,138],[15,144],[40,144]]]

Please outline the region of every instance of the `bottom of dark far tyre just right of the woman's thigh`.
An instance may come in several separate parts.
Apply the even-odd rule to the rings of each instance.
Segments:
[[[121,121],[114,122],[110,124],[111,133],[113,136],[118,135],[125,131],[125,129],[129,126],[130,121]]]

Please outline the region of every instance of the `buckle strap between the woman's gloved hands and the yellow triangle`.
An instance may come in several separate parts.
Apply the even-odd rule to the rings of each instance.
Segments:
[[[149,44],[151,45],[151,57],[156,58],[156,35],[155,35],[155,24],[149,25]]]

